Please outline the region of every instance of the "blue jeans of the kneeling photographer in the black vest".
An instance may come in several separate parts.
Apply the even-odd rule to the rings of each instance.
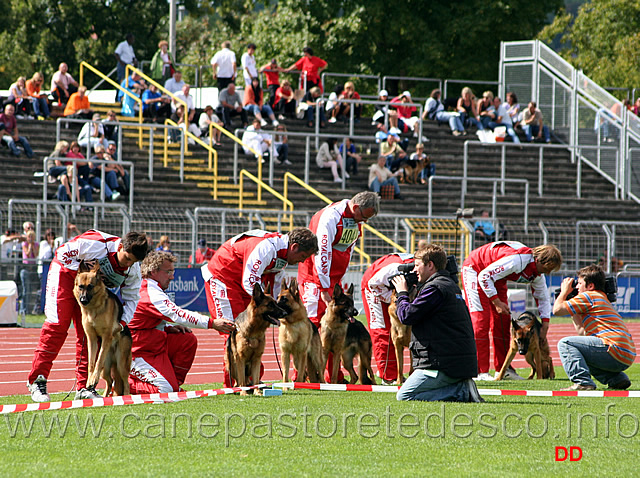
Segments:
[[[435,377],[431,375],[436,374]],[[465,379],[451,378],[438,370],[414,370],[396,394],[398,400],[425,402],[468,402],[469,386]]]

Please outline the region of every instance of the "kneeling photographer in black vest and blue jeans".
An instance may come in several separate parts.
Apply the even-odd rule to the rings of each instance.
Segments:
[[[415,369],[397,399],[481,402],[471,379],[478,370],[471,317],[447,268],[447,254],[430,244],[415,259],[420,284],[413,301],[404,275],[391,280],[398,294],[398,319],[412,326],[409,348]]]

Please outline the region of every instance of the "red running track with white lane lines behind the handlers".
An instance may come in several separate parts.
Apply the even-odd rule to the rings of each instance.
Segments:
[[[627,327],[634,337],[640,337],[640,323],[627,322]],[[263,379],[267,381],[282,380],[276,356],[274,353],[272,332],[267,331],[267,345],[263,357],[265,374]],[[551,326],[549,341],[551,354],[556,366],[560,365],[556,345],[558,340],[567,335],[573,335],[575,329],[572,324],[556,324]],[[201,384],[222,382],[222,345],[223,341],[217,332],[211,330],[194,330],[198,337],[198,352],[196,359],[187,375],[188,384]],[[40,329],[1,328],[0,329],[0,396],[22,395],[27,393],[27,375],[31,370],[33,352],[38,344]],[[67,392],[74,386],[75,380],[75,333],[69,330],[58,358],[53,364],[49,376],[48,389],[51,393]],[[278,334],[275,333],[276,348],[278,347]],[[278,355],[280,349],[277,348]],[[282,360],[281,360],[282,362]],[[408,373],[409,352],[405,350],[405,374]],[[493,358],[491,358],[493,363]],[[640,357],[636,358],[640,363]],[[526,377],[529,373],[529,365],[520,355],[516,356],[513,365],[520,371],[520,375]],[[377,373],[375,360],[374,371]],[[103,383],[103,382],[101,382]]]

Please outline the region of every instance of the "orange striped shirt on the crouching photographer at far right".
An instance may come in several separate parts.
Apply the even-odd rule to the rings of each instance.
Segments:
[[[631,365],[636,358],[633,337],[603,292],[587,291],[565,302],[572,314],[582,314],[585,335],[601,339],[613,358]]]

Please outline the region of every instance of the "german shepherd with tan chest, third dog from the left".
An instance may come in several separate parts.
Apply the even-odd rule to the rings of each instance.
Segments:
[[[280,321],[279,333],[284,368],[282,379],[289,381],[289,365],[293,355],[297,381],[304,382],[308,378],[312,383],[324,383],[320,334],[307,316],[296,279],[291,279],[288,286],[286,279],[282,280],[278,307],[287,313]]]

